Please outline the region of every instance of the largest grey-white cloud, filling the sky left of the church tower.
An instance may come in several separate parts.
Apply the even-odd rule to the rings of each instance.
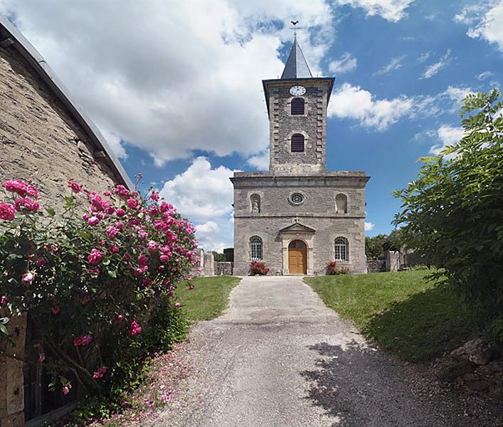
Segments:
[[[297,37],[314,73],[333,40],[324,0],[0,0],[16,25],[125,157],[121,139],[157,165],[194,150],[219,156],[268,147],[261,80]]]

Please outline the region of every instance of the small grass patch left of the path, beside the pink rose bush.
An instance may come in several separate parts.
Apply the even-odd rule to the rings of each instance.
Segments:
[[[240,278],[231,276],[214,276],[192,280],[194,290],[180,285],[176,296],[182,297],[181,307],[190,323],[198,320],[211,320],[227,307],[228,295]]]

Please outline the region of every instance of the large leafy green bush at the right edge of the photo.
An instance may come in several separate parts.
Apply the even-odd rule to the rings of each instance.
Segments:
[[[408,246],[442,270],[452,288],[486,309],[503,305],[502,95],[468,95],[461,116],[464,136],[423,166],[396,191]],[[492,310],[491,310],[492,311]]]

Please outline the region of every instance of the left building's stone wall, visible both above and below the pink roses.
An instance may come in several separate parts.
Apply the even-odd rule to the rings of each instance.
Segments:
[[[33,179],[43,206],[63,204],[68,179],[104,191],[122,182],[90,137],[13,47],[0,48],[0,180]],[[16,347],[0,358],[0,426],[23,426],[26,318],[9,322]],[[15,353],[15,357],[14,357]]]

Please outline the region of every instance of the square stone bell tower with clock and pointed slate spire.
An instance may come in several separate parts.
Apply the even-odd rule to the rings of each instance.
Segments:
[[[270,129],[270,171],[327,170],[327,106],[334,78],[313,77],[294,38],[280,79],[263,80]]]

